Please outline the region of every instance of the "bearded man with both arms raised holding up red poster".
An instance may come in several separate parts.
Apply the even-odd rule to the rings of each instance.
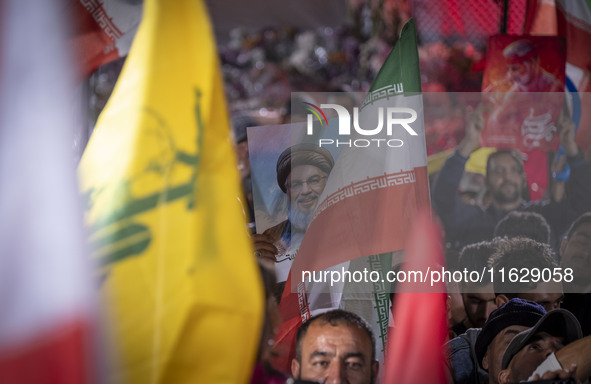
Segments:
[[[486,164],[486,187],[491,201],[488,206],[482,207],[463,203],[457,190],[466,162],[479,145],[483,124],[479,108],[466,126],[466,136],[446,160],[433,183],[433,208],[443,222],[447,241],[452,247],[460,248],[491,240],[496,224],[508,212],[519,210],[541,214],[550,225],[552,244],[557,248],[558,236],[576,217],[591,210],[591,165],[585,161],[575,142],[574,124],[564,114],[556,122],[561,145],[571,167],[567,198],[561,201],[525,201],[522,195],[527,183],[521,156],[514,151],[500,150],[492,153]],[[540,167],[546,166],[540,164]]]

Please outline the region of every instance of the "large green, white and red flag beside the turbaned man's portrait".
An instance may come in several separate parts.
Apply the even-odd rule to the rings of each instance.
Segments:
[[[389,321],[388,283],[311,286],[302,282],[302,272],[328,268],[355,272],[367,267],[383,276],[391,269],[390,253],[404,248],[410,222],[419,209],[430,204],[420,92],[416,31],[410,20],[360,108],[359,121],[369,130],[378,126],[379,115],[388,113],[387,108],[411,108],[416,113],[411,124],[416,135],[400,125],[387,134],[384,125],[379,134],[350,138],[381,140],[380,146],[373,141],[371,147],[346,147],[336,159],[280,303],[284,323],[276,335],[279,357],[274,365],[278,369],[289,372],[295,332],[302,322],[333,308],[353,310],[364,317],[383,349]],[[349,137],[339,136],[345,139]]]

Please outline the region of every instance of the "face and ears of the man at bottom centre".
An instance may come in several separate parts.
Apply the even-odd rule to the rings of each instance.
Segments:
[[[291,373],[298,379],[372,384],[377,377],[371,340],[360,328],[312,323],[301,340],[301,350],[301,361],[294,359],[291,365]]]

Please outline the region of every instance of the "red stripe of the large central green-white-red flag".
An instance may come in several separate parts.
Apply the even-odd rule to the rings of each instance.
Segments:
[[[427,167],[414,172],[415,182],[359,193],[322,211],[310,224],[293,262],[293,283],[301,281],[302,270],[319,271],[402,249],[409,235],[407,223],[417,209],[429,207]]]

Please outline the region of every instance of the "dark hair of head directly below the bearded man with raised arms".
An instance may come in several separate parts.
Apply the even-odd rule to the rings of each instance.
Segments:
[[[527,237],[550,244],[550,226],[544,216],[535,212],[509,212],[495,227],[495,237]]]

